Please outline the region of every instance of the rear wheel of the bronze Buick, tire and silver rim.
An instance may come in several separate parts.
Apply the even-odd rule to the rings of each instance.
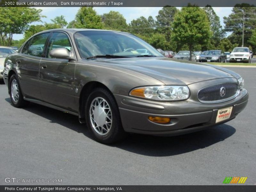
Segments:
[[[17,108],[25,107],[29,104],[28,101],[23,99],[20,89],[20,82],[16,74],[13,74],[9,81],[10,98],[12,105]]]

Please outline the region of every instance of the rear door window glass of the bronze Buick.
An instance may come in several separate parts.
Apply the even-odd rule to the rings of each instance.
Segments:
[[[42,57],[44,52],[44,45],[50,33],[43,33],[34,36],[27,44],[24,45],[22,53]]]

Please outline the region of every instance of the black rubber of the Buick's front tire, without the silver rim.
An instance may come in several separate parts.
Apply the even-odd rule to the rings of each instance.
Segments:
[[[92,124],[91,124],[90,106],[91,106],[92,100],[94,100],[96,97],[102,97],[103,99],[105,99],[108,102],[108,105],[111,109],[112,124],[111,124],[110,131],[106,135],[98,134],[94,130],[94,128],[92,127]],[[121,132],[123,131],[123,130],[121,130],[121,129],[123,129],[123,127],[121,125],[120,114],[119,114],[119,110],[118,110],[116,101],[113,98],[113,96],[107,90],[105,90],[103,88],[94,89],[92,91],[92,93],[88,96],[88,99],[85,104],[85,120],[86,120],[87,127],[93,134],[93,137],[102,143],[116,142],[117,140],[119,140],[118,133],[120,131]]]

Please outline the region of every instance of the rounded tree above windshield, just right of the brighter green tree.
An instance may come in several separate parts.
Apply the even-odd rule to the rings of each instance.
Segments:
[[[124,16],[117,11],[110,11],[102,15],[105,29],[124,31],[127,28]]]

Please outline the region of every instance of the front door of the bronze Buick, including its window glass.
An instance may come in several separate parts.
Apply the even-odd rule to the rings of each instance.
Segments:
[[[42,99],[50,104],[75,110],[74,106],[74,76],[76,61],[56,59],[50,56],[50,51],[65,47],[69,51],[72,45],[64,32],[53,32],[49,38],[45,58],[40,63],[40,91]]]

